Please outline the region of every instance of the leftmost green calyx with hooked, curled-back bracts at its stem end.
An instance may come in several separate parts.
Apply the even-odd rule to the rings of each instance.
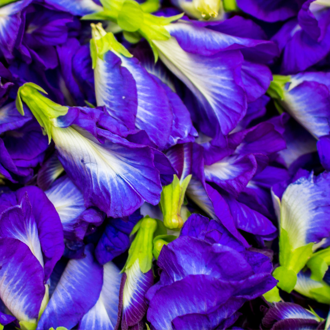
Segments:
[[[39,91],[47,94],[43,88],[33,82],[26,82],[20,86],[16,96],[16,108],[21,115],[24,115],[23,102],[26,103],[42,127],[44,135],[48,135],[50,143],[51,127],[56,125],[55,119],[66,115],[69,108],[49,100]]]

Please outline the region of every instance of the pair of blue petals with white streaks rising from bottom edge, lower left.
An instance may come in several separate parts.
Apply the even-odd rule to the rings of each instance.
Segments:
[[[84,249],[85,257],[70,259],[65,266],[37,329],[78,324],[79,329],[114,329],[118,313],[119,270],[109,262],[100,265],[93,245]]]

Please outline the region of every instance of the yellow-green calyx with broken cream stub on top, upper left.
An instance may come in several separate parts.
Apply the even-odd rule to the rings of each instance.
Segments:
[[[103,60],[103,56],[109,50],[122,54],[126,57],[132,57],[133,55],[121,44],[119,43],[114,34],[111,32],[106,32],[101,23],[90,24],[92,27],[92,39],[90,40],[90,54],[92,57],[93,69],[96,66],[96,60],[99,57]]]

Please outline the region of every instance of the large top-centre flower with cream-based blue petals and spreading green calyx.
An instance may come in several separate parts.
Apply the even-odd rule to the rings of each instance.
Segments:
[[[134,24],[133,17],[127,14],[133,7],[136,13]],[[212,137],[221,133],[228,134],[246,112],[246,95],[239,74],[243,58],[237,49],[255,48],[254,57],[261,57],[266,62],[278,52],[276,45],[268,41],[228,36],[194,26],[192,22],[171,24],[181,16],[152,16],[144,13],[143,7],[139,7],[136,2],[124,2],[119,10],[109,1],[104,8],[103,15],[118,23],[127,33],[138,33],[148,40],[155,59],[159,56],[192,91],[203,108],[200,110],[201,130]],[[112,16],[109,14],[110,9]],[[97,17],[85,16],[89,19]],[[230,50],[234,44],[236,50]],[[230,89],[223,90],[221,82],[224,80]],[[227,102],[227,99],[235,99],[235,102]]]

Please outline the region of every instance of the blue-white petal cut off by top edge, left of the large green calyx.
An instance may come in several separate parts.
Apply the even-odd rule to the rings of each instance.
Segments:
[[[93,0],[46,0],[45,2],[57,10],[77,16],[93,14],[103,10],[103,7],[97,5]]]

